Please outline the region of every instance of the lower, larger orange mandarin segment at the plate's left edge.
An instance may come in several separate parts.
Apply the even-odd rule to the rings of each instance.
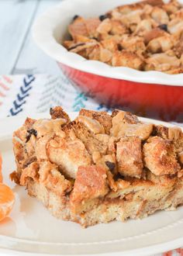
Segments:
[[[9,186],[0,183],[0,221],[5,219],[12,210],[15,202],[15,195]]]

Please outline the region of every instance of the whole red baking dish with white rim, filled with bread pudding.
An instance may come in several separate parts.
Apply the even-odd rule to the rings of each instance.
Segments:
[[[173,23],[171,18],[173,21],[175,13],[180,16],[183,0],[179,0],[181,4],[165,4],[161,0],[136,1],[60,2],[36,20],[33,38],[47,56],[57,61],[60,70],[74,86],[102,106],[124,109],[138,116],[182,123],[183,79],[182,73],[178,74],[181,72],[181,19],[177,18]],[[116,8],[119,5],[127,7]],[[148,11],[150,14],[147,7],[151,10]],[[140,22],[136,23],[138,19],[134,17],[133,22],[120,17],[120,22],[119,16],[124,18],[124,12],[129,12],[129,9],[134,9],[134,12],[130,11],[134,16],[144,10],[146,13],[140,14]],[[162,20],[161,15],[158,16],[158,13],[161,14],[160,9],[167,13],[165,16],[168,16],[168,24],[165,16]],[[156,18],[155,11],[158,11]],[[120,26],[108,24],[112,22]],[[146,22],[152,23],[149,29]],[[140,29],[136,29],[137,26]],[[107,31],[107,27],[110,31],[101,33]],[[162,44],[164,40],[160,40],[162,36],[168,38],[166,45]],[[178,43],[174,43],[176,37],[180,39]],[[154,44],[154,40],[157,43]],[[174,46],[171,47],[172,42]],[[159,49],[156,50],[156,47]],[[167,50],[169,48],[171,50]],[[112,64],[116,66],[112,67]]]

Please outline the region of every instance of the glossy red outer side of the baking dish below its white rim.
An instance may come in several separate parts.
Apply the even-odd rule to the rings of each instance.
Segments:
[[[107,106],[121,107],[139,116],[183,122],[183,87],[105,78],[59,65],[83,92],[95,95]]]

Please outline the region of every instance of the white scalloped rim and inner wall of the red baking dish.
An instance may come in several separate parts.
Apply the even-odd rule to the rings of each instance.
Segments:
[[[183,3],[183,0],[179,0]],[[136,71],[129,67],[111,67],[100,61],[88,61],[66,50],[60,43],[68,36],[67,26],[74,15],[94,17],[135,0],[64,0],[45,12],[33,25],[36,44],[55,61],[91,74],[128,81],[160,85],[183,86],[183,74],[165,74],[157,71]]]

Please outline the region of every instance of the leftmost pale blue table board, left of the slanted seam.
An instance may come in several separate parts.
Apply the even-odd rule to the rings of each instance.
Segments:
[[[39,0],[0,1],[0,74],[11,74]]]

